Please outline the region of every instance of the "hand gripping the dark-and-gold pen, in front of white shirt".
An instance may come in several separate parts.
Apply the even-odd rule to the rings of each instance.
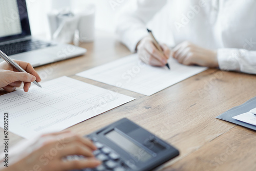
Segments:
[[[147,36],[137,45],[139,58],[148,65],[163,67],[167,63],[170,50],[166,45],[160,45],[164,54],[162,54],[154,45],[152,38]]]

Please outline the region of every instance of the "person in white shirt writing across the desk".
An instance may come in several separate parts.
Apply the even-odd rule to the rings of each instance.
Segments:
[[[256,74],[256,1],[137,0],[124,6],[117,34],[145,63],[163,67],[172,56],[184,65]],[[172,52],[161,44],[160,53],[146,31],[157,12],[163,42],[176,44]]]

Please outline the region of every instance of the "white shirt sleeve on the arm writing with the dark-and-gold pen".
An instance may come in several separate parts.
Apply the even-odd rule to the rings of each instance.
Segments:
[[[148,35],[146,24],[166,4],[166,0],[136,0],[125,4],[116,18],[121,42],[135,52],[138,42]]]

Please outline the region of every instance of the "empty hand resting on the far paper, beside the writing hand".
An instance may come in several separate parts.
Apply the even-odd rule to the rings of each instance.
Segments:
[[[203,67],[218,67],[217,51],[201,48],[189,41],[177,45],[172,56],[184,65],[198,65]]]

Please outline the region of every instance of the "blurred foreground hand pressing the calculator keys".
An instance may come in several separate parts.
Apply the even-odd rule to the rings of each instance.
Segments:
[[[91,140],[67,131],[43,135],[28,143],[25,148],[20,149],[20,147],[15,156],[13,154],[9,156],[12,162],[3,171],[64,171],[94,168],[101,164],[101,161],[94,158],[93,151],[97,147]],[[67,160],[67,156],[72,155],[84,156],[84,158]]]

